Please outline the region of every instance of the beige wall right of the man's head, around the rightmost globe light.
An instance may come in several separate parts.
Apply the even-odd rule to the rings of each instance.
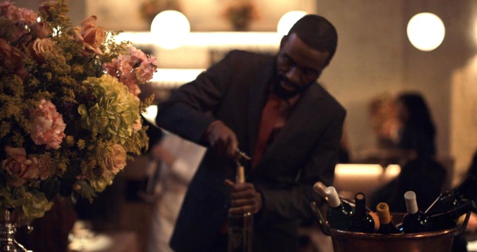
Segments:
[[[330,19],[339,33],[338,51],[322,81],[348,109],[353,153],[374,145],[366,107],[372,97],[384,91],[417,90],[431,108],[438,130],[439,156],[456,157],[457,173],[467,168],[477,138],[466,141],[466,135],[475,128],[466,124],[451,134],[451,119],[454,122],[469,117],[456,108],[451,118],[451,96],[455,91],[454,72],[464,71],[461,69],[474,56],[475,5],[471,0],[317,0],[317,13]],[[446,37],[434,51],[421,52],[407,39],[407,22],[419,12],[437,14],[446,26]],[[467,84],[475,86],[475,82]],[[469,99],[474,102],[477,96]],[[454,143],[451,151],[451,136],[459,136],[467,143],[465,147],[473,149],[460,155],[465,147]]]

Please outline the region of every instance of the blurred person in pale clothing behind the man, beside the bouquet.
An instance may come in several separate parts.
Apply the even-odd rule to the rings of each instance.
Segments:
[[[157,129],[156,129],[157,130]],[[148,252],[172,252],[169,240],[176,224],[189,182],[205,148],[177,135],[164,133],[163,139],[152,146],[150,156],[157,163],[151,171],[150,184],[154,190],[154,210]]]

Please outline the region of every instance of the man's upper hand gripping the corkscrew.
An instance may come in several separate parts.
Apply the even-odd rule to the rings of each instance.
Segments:
[[[212,122],[205,137],[210,146],[215,148],[220,155],[235,158],[238,147],[237,136],[222,121]]]

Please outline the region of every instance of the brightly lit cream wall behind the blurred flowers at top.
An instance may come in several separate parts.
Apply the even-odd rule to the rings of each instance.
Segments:
[[[224,6],[230,0],[178,0],[182,12],[191,23],[192,31],[227,31],[229,23],[222,17]],[[113,30],[149,30],[150,24],[139,15],[142,0],[86,0],[88,15],[103,18],[101,25]],[[251,25],[256,31],[275,31],[280,17],[288,10],[313,12],[314,0],[256,0],[259,19]]]

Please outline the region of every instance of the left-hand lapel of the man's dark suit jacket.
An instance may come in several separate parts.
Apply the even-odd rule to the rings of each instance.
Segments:
[[[262,118],[262,110],[267,102],[267,93],[272,74],[274,73],[275,60],[266,66],[262,75],[258,75],[255,81],[250,83],[249,95],[249,111],[248,111],[248,134],[249,134],[249,151],[253,155],[255,144],[257,142],[258,129],[260,127],[260,119]]]

